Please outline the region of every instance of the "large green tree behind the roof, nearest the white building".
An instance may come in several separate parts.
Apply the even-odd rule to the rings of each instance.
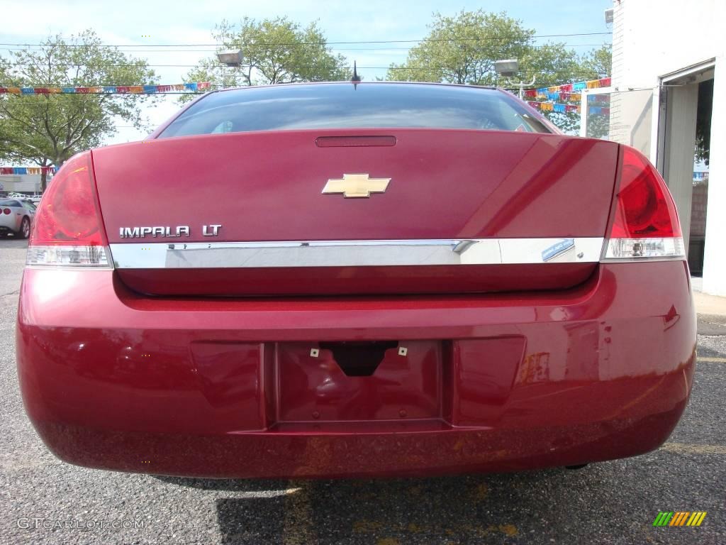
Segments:
[[[478,9],[462,11],[454,17],[436,13],[429,29],[420,44],[410,49],[405,62],[391,64],[386,79],[497,85],[516,92],[521,81],[549,87],[610,75],[609,46],[580,57],[566,44],[535,44],[535,31],[524,28],[520,20],[507,17],[504,12],[494,14]],[[494,61],[513,58],[519,62],[517,76],[498,76]],[[564,132],[579,129],[579,113],[542,113]],[[597,136],[607,134],[605,116],[591,116],[589,125]]]

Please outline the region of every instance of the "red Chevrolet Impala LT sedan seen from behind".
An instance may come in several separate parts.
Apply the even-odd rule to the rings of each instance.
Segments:
[[[677,424],[695,348],[648,160],[438,84],[211,92],[78,154],[38,209],[17,323],[60,459],[200,477],[634,456]]]

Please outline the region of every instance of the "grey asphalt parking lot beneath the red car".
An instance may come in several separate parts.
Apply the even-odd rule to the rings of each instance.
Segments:
[[[126,475],[58,461],[25,416],[14,340],[24,262],[25,241],[0,240],[0,543],[726,543],[726,336],[699,336],[685,416],[633,459],[401,480]],[[654,528],[659,511],[708,514],[698,528]]]

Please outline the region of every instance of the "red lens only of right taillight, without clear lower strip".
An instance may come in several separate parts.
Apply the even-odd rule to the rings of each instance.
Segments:
[[[611,237],[680,237],[678,214],[666,182],[643,154],[623,148]]]

